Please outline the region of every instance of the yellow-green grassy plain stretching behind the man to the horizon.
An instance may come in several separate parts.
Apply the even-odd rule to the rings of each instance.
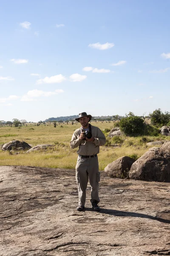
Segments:
[[[91,122],[101,130],[113,128],[113,122]],[[28,124],[20,128],[0,127],[0,144],[11,140],[25,141],[31,146],[38,144],[52,144],[54,147],[47,151],[34,151],[30,154],[14,155],[8,151],[0,150],[0,166],[21,165],[21,166],[40,166],[49,168],[74,169],[77,161],[77,148],[70,148],[70,140],[74,131],[79,128],[79,123],[71,125],[64,123],[54,128],[53,123],[49,125],[36,126]],[[107,133],[105,134],[107,137]],[[155,140],[170,140],[169,137],[122,137],[122,143],[108,138],[110,146],[100,147],[99,169],[104,170],[105,166],[122,156],[136,155],[142,156],[148,148],[146,143]]]

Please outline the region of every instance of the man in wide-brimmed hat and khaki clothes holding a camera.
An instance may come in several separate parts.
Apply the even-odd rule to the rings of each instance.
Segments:
[[[76,181],[79,192],[78,211],[85,208],[86,189],[88,185],[88,177],[91,185],[91,205],[95,211],[99,211],[99,163],[97,154],[99,146],[105,145],[106,138],[102,131],[89,124],[92,116],[86,112],[80,113],[76,121],[82,125],[77,129],[71,139],[71,148],[79,149],[77,151],[78,159],[76,165]]]

